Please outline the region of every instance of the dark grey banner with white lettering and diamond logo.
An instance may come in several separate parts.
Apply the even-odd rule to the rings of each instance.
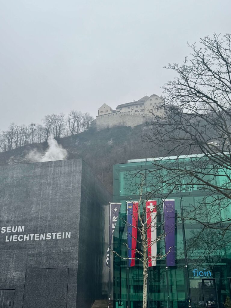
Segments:
[[[109,243],[107,247],[106,265],[111,266],[111,240],[115,230],[115,225],[119,217],[121,203],[110,203],[110,221],[109,221]]]

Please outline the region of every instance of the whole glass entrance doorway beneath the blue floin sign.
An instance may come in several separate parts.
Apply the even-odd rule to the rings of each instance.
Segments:
[[[218,308],[215,279],[190,279],[192,308]]]

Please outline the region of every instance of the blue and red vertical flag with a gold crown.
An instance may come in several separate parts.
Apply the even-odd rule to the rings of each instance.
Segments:
[[[128,207],[128,267],[135,265],[138,227],[138,202],[127,202]]]

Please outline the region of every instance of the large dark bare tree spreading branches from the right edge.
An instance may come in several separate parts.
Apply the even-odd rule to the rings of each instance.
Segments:
[[[200,43],[188,44],[192,53],[182,65],[168,65],[176,77],[163,87],[164,112],[151,111],[144,141],[162,156],[176,156],[153,161],[150,173],[160,187],[169,193],[203,192],[197,205],[184,208],[184,217],[226,232],[231,230],[231,35],[206,36]],[[178,159],[192,154],[201,155]]]

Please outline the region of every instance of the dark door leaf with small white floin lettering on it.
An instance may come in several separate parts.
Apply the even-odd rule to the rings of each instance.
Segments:
[[[205,308],[218,308],[215,279],[202,279]]]

